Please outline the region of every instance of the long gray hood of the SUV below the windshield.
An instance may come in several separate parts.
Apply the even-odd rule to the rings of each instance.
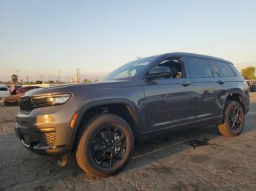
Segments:
[[[30,90],[26,92],[24,96],[32,96],[45,93],[79,93],[81,90],[104,90],[110,88],[131,87],[139,85],[141,85],[139,80],[105,80],[81,84],[59,85],[55,87],[43,87]]]

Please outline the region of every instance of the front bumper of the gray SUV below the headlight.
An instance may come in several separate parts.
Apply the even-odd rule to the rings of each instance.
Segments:
[[[72,110],[66,106],[33,109],[16,117],[15,133],[26,149],[39,155],[62,156],[72,151]]]

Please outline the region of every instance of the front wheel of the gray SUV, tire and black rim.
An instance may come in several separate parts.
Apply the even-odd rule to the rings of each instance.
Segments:
[[[120,147],[114,146],[116,144],[120,144]],[[115,114],[101,114],[91,119],[83,129],[76,159],[86,173],[108,177],[124,167],[133,153],[133,147],[134,138],[129,124]]]

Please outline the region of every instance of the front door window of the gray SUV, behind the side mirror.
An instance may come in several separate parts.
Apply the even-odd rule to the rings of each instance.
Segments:
[[[185,77],[181,58],[166,58],[157,65],[157,67],[161,66],[166,66],[170,68],[170,76],[165,77],[165,79],[179,79]]]

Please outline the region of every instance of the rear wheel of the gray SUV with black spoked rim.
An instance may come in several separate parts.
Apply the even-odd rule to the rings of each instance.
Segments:
[[[237,117],[237,120],[234,120],[234,118],[237,116],[236,112],[238,112],[239,117]],[[233,115],[235,117],[233,117]],[[241,104],[239,104],[237,101],[227,101],[224,112],[224,122],[218,125],[218,129],[222,136],[240,135],[244,129],[244,109]]]

